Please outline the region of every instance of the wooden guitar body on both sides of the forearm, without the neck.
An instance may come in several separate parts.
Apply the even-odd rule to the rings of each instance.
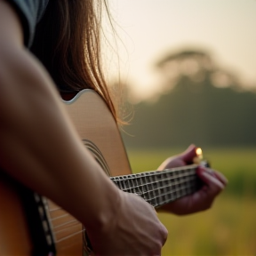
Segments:
[[[84,90],[76,94],[74,99],[64,101],[64,103],[68,116],[70,116],[81,140],[84,142],[84,147],[87,147],[92,152],[92,155],[102,166],[103,171],[109,176],[131,173],[130,164],[116,121],[104,100],[96,92]],[[51,147],[51,141],[49,141],[49,146]],[[31,220],[28,214],[30,205],[29,203],[27,205],[23,204],[24,198],[22,198],[22,193],[20,193],[23,189],[22,186],[5,175],[4,172],[0,172],[0,175],[1,256],[38,256],[47,255],[55,250],[58,256],[86,255],[86,250],[84,250],[84,227],[79,221],[46,198],[44,198],[46,202],[42,205],[44,206],[44,215],[49,222],[50,228],[44,227],[45,216],[42,220]],[[33,196],[34,192],[30,191],[30,194]],[[36,206],[37,215],[41,214],[40,211],[42,209],[39,208],[42,208],[42,205]],[[31,227],[33,228],[34,225],[43,226],[45,230],[41,233],[43,236],[45,233],[46,242],[49,240],[49,230],[47,229],[51,229],[53,241],[48,248],[52,248],[53,245],[55,250],[43,248],[45,246],[40,241],[36,242],[37,245],[34,243],[34,236],[40,233],[39,231],[31,231]]]

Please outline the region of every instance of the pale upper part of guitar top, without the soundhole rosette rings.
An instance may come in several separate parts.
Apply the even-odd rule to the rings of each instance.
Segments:
[[[81,140],[89,140],[100,149],[108,164],[109,175],[131,173],[116,121],[100,96],[92,90],[84,90],[65,103]],[[94,156],[98,160],[97,155]]]

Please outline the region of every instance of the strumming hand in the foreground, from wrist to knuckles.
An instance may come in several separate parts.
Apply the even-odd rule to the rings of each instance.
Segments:
[[[167,229],[155,209],[140,196],[120,191],[115,218],[102,230],[88,232],[96,255],[161,255]]]

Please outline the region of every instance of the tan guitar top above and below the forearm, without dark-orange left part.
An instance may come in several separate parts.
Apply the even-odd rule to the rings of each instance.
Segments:
[[[109,176],[131,173],[116,121],[100,96],[92,90],[84,90],[74,99],[66,101],[65,107],[81,140],[84,141],[84,147],[92,152],[103,171]],[[57,255],[84,255],[82,224],[74,221],[73,216],[50,200],[48,205]]]

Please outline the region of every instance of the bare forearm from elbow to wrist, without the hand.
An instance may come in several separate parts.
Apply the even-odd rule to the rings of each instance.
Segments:
[[[108,218],[117,189],[79,140],[51,78],[26,50],[0,61],[1,166],[83,222]]]

